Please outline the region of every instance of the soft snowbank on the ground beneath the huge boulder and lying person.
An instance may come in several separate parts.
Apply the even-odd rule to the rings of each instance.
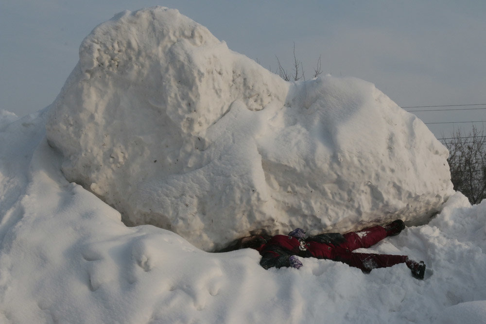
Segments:
[[[267,271],[254,250],[127,227],[65,179],[48,113],[0,128],[0,323],[486,322],[486,201],[457,192],[429,224],[367,249],[424,260],[425,280],[403,264],[364,274],[314,258]]]

